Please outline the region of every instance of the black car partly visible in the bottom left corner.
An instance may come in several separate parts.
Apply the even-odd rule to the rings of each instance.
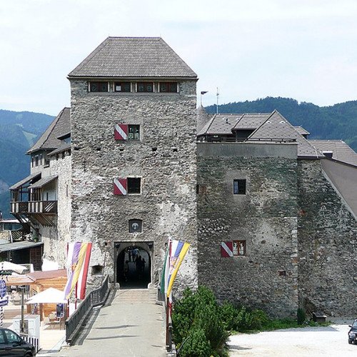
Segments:
[[[0,328],[0,356],[36,356],[31,343],[24,341],[16,332],[9,328]]]

